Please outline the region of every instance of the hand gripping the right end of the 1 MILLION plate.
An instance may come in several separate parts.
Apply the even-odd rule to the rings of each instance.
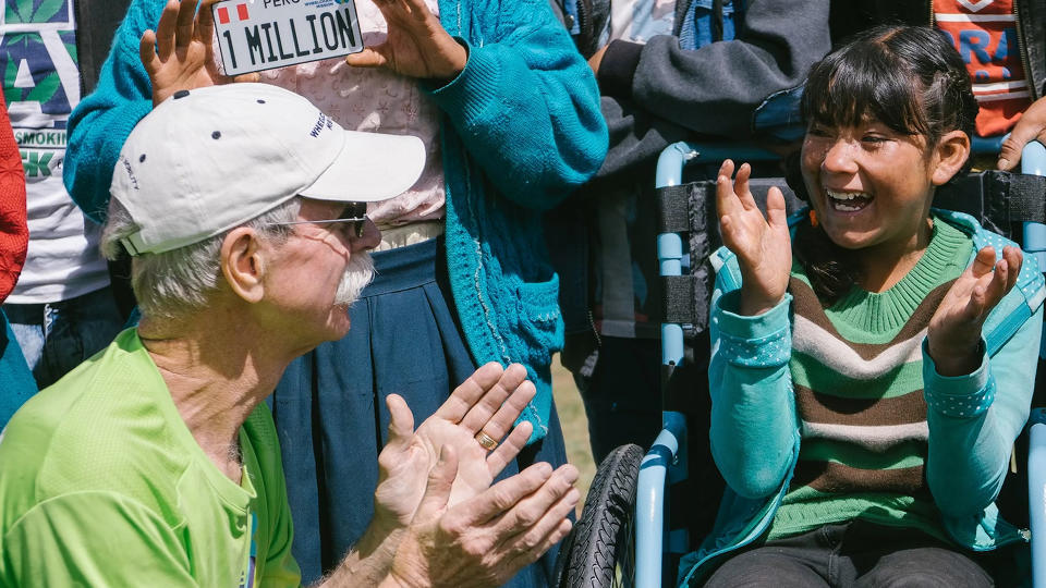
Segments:
[[[424,0],[374,0],[389,25],[381,45],[345,58],[356,68],[385,68],[408,77],[452,79],[469,53],[453,39]]]

